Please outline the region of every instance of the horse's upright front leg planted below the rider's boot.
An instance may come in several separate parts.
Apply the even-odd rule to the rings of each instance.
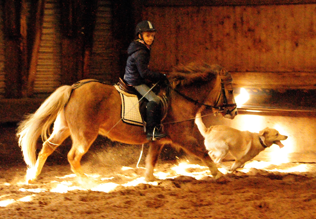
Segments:
[[[153,182],[156,179],[154,177],[154,167],[157,164],[158,157],[163,145],[159,142],[151,142],[149,144],[148,154],[146,156],[146,172],[145,172],[145,181]]]

